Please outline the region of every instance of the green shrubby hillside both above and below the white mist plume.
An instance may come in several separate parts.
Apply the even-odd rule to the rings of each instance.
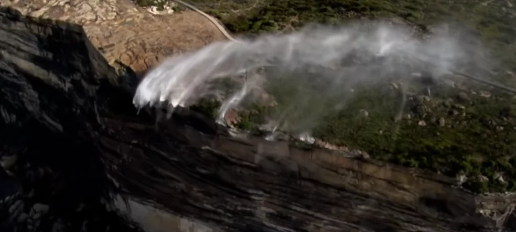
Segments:
[[[516,72],[516,1],[445,0],[189,0],[215,15],[235,34],[294,30],[308,22],[340,24],[350,19],[397,18],[425,32],[428,25],[459,22],[485,39],[499,61],[498,80]],[[513,6],[514,5],[514,6]],[[314,135],[336,145],[367,151],[373,158],[466,176],[475,192],[516,191],[516,100],[483,86],[441,85],[417,90],[399,113],[399,90],[379,85],[357,88],[345,109],[326,118]],[[241,112],[239,127],[252,129],[264,115],[288,102]],[[314,92],[314,96],[317,92]],[[331,104],[331,103],[327,103]],[[211,113],[218,104],[198,110]],[[314,111],[321,107],[314,105]],[[367,111],[367,117],[357,117]],[[272,113],[271,113],[272,112]]]

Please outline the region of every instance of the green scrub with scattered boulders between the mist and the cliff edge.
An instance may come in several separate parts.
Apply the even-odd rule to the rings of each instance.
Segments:
[[[400,108],[402,96],[397,89],[368,86],[354,92],[342,111],[320,120],[313,129],[315,137],[366,151],[375,159],[464,176],[462,186],[474,192],[516,191],[516,101],[512,96],[497,90],[441,86],[432,90],[431,97],[426,89],[407,96]],[[256,131],[264,118],[288,104],[281,96],[277,99],[276,106],[253,105],[241,111],[235,126]],[[213,112],[216,106],[201,108],[213,107],[209,111]]]

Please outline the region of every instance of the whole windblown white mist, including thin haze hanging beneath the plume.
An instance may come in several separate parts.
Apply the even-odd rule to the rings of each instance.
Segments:
[[[283,106],[270,119],[271,128],[310,131],[322,117],[342,110],[356,85],[415,78],[415,72],[439,78],[451,70],[471,73],[486,67],[484,50],[472,34],[449,25],[434,28],[423,39],[411,27],[368,21],[215,42],[151,70],[134,104],[187,106],[212,94],[214,80],[247,71],[245,81],[222,99],[219,118],[265,91]]]

